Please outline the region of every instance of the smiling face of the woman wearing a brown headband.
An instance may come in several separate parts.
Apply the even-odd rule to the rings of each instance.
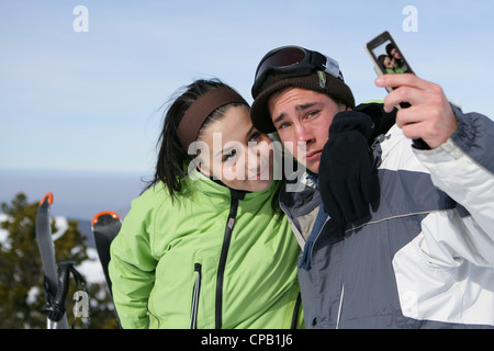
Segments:
[[[244,191],[261,191],[272,182],[271,140],[258,132],[246,106],[227,107],[224,116],[209,124],[198,141],[199,169],[225,185]]]

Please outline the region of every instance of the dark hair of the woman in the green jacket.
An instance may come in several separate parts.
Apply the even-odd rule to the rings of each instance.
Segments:
[[[201,95],[217,88],[229,88],[218,79],[211,80],[195,80],[191,84],[178,91],[168,103],[171,103],[164,113],[164,126],[158,138],[158,159],[156,162],[154,179],[147,184],[146,189],[156,185],[162,181],[170,193],[175,197],[175,193],[181,190],[181,179],[186,177],[186,162],[191,160],[187,150],[183,148],[178,137],[178,127],[180,121],[183,118],[186,111],[198,100]],[[167,103],[162,105],[166,106]],[[228,104],[216,109],[203,123],[201,131],[204,129],[213,120],[217,120],[224,115],[224,111],[231,105],[239,105],[239,103]]]

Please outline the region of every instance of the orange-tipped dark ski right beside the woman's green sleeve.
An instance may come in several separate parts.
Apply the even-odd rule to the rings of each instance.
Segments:
[[[111,211],[104,211],[97,214],[91,220],[92,235],[94,244],[103,268],[104,279],[106,281],[110,295],[112,295],[112,283],[108,273],[108,264],[110,262],[110,245],[116,237],[122,227],[122,220],[119,215]]]

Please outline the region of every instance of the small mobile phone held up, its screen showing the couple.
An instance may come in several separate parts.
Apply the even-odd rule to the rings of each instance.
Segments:
[[[378,75],[414,72],[389,32],[378,35],[366,48],[375,64]]]

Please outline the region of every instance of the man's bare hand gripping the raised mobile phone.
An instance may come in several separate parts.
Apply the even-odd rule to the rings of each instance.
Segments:
[[[441,87],[415,75],[384,75],[378,87],[396,88],[384,99],[384,110],[402,102],[411,104],[396,114],[396,124],[411,139],[423,139],[431,149],[446,143],[457,129],[457,118]]]

